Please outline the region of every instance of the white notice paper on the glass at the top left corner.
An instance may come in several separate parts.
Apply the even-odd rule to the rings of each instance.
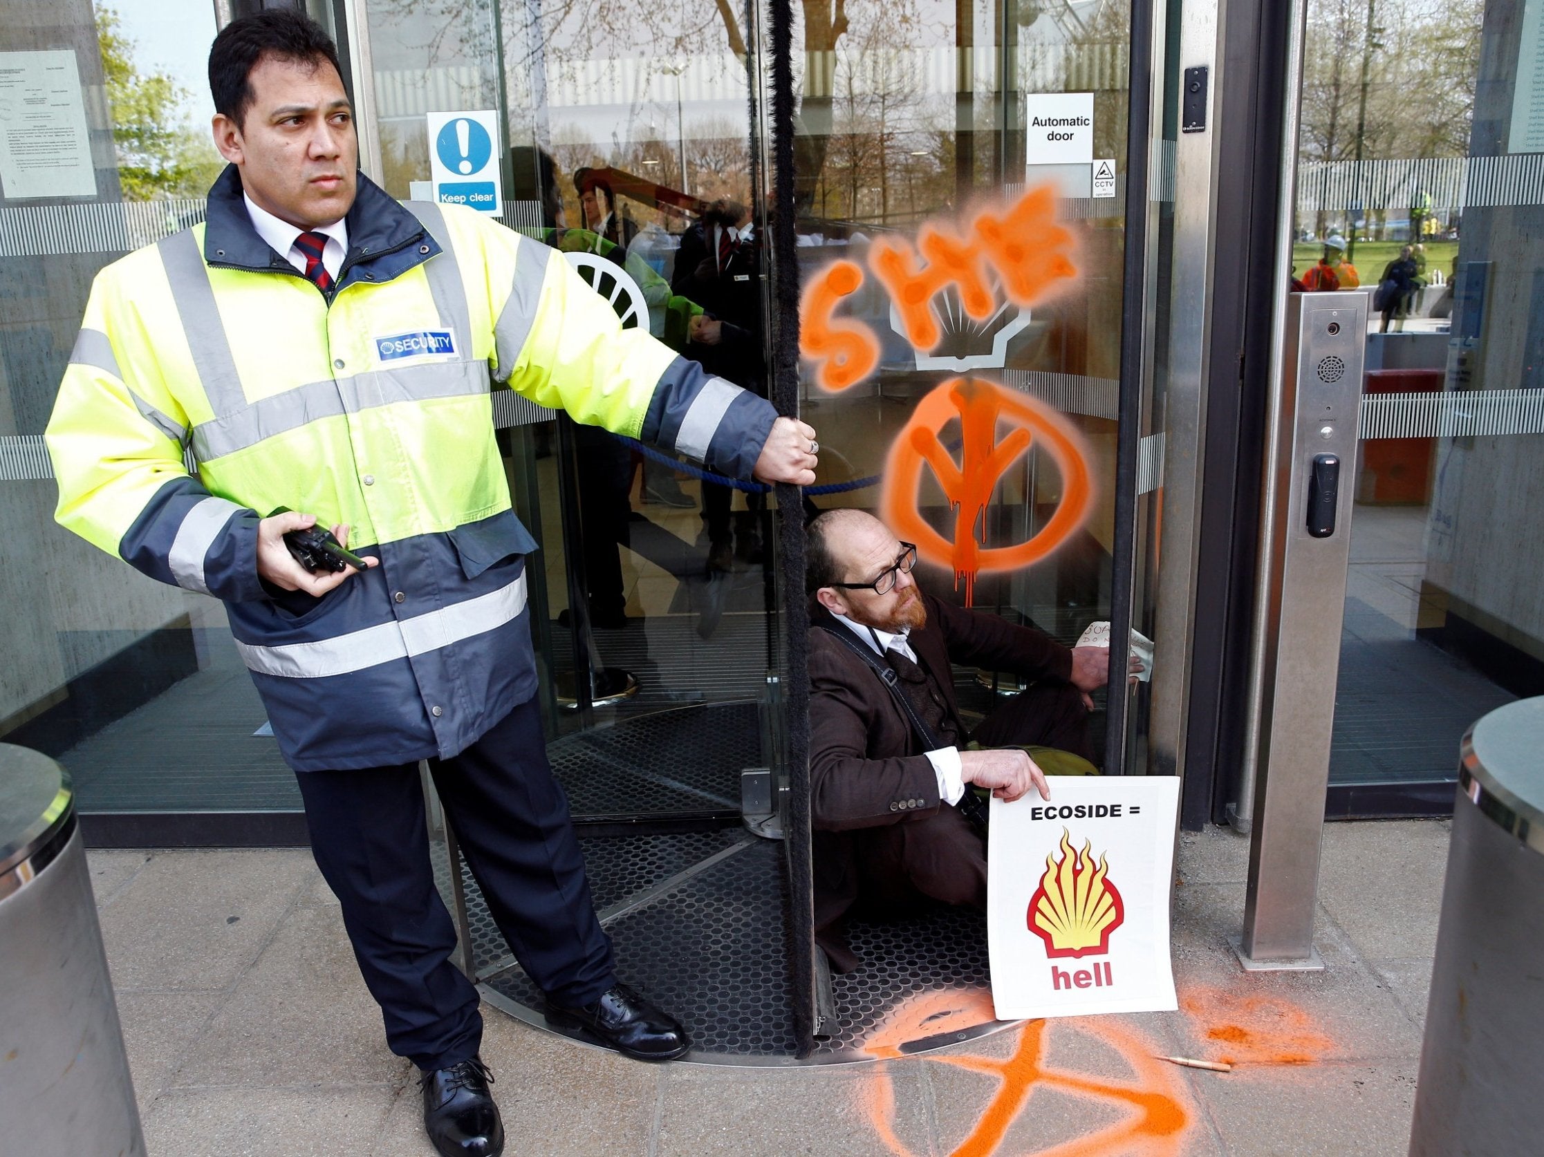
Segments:
[[[91,139],[73,51],[0,52],[0,191],[91,197]]]

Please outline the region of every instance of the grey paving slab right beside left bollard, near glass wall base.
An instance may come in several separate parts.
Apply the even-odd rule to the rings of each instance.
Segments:
[[[301,848],[151,856],[100,913],[113,983],[230,987],[315,872]]]

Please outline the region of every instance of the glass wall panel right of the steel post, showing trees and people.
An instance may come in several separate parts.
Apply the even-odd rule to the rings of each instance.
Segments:
[[[1314,0],[1294,288],[1370,296],[1331,782],[1439,804],[1544,691],[1536,0]]]

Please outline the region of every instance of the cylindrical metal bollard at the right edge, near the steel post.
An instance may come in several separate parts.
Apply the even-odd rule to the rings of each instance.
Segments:
[[[1544,697],[1464,736],[1411,1157],[1539,1152]]]

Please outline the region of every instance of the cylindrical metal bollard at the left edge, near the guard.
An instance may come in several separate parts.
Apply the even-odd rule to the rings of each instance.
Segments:
[[[37,1157],[145,1157],[69,778],[52,759],[8,744],[0,744],[0,1137]],[[9,1152],[9,1142],[0,1148]]]

